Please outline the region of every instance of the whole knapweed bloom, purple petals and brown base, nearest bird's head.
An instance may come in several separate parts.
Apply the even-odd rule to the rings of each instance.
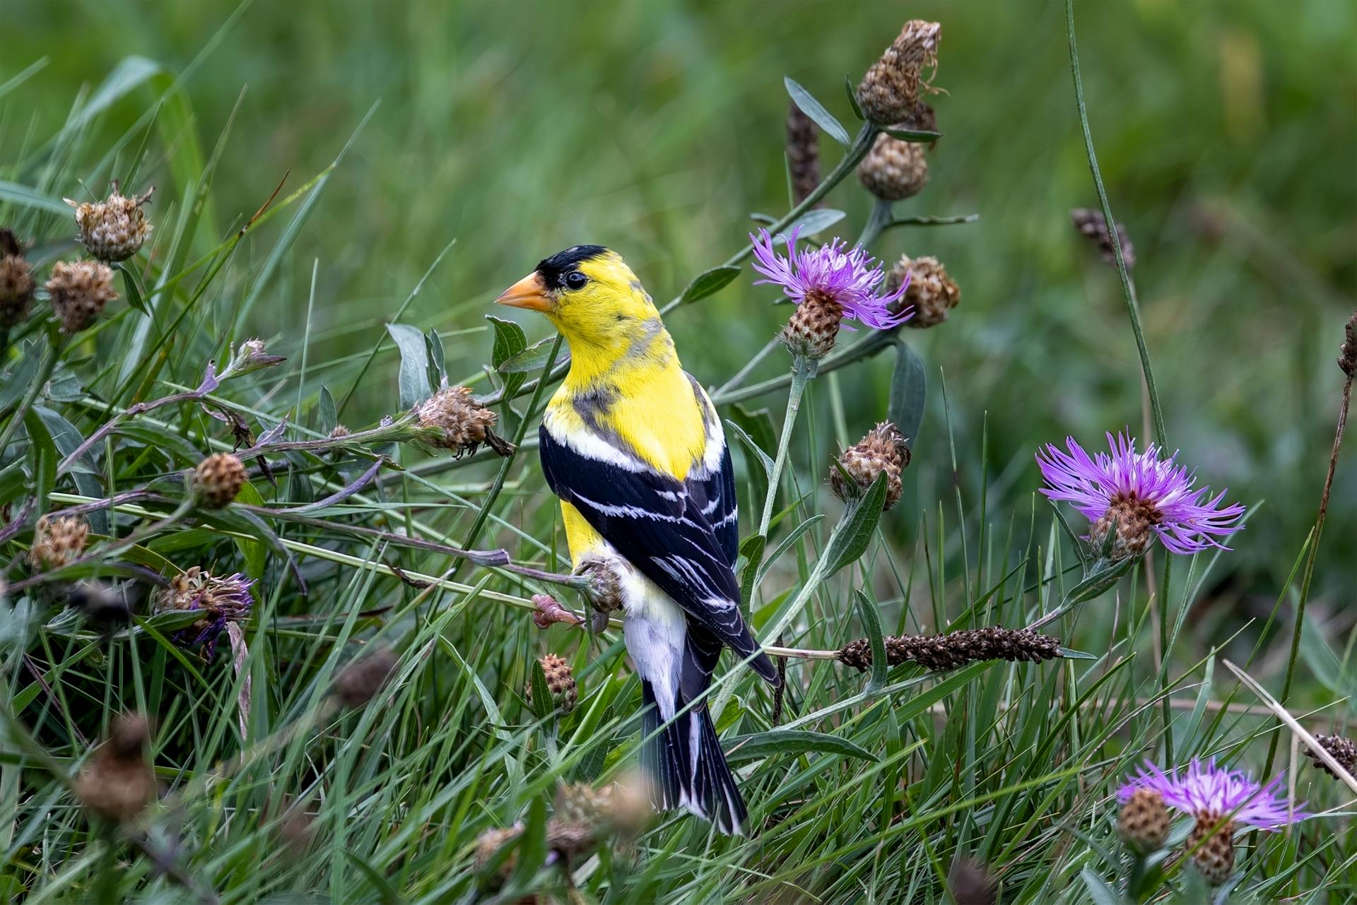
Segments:
[[[890,309],[908,285],[878,294],[886,274],[862,246],[848,248],[843,239],[833,239],[818,248],[798,251],[799,235],[801,228],[794,227],[779,236],[787,244],[786,255],[776,251],[767,229],[749,236],[753,269],[764,275],[754,285],[776,285],[797,304],[797,313],[782,334],[792,354],[824,358],[845,319],[873,330],[890,330],[909,320],[912,311]]]

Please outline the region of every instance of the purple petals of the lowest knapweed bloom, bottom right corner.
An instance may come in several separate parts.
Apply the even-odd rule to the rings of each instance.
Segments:
[[[1125,805],[1137,788],[1151,788],[1164,796],[1164,803],[1198,820],[1220,821],[1227,818],[1234,824],[1247,824],[1258,829],[1281,829],[1310,817],[1304,802],[1295,809],[1288,806],[1281,794],[1282,776],[1278,775],[1266,786],[1258,784],[1242,769],[1221,769],[1212,758],[1202,764],[1193,760],[1179,776],[1174,768],[1170,772],[1159,769],[1151,761],[1136,771],[1129,782],[1117,790],[1117,799]]]

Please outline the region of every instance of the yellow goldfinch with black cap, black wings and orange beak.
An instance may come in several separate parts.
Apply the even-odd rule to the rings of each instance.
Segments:
[[[541,312],[570,343],[570,369],[539,429],[541,468],[575,569],[603,560],[620,578],[654,803],[746,834],[748,809],[703,692],[723,647],[771,685],[782,680],[740,611],[740,517],[716,408],[609,248],[551,255],[495,301]]]

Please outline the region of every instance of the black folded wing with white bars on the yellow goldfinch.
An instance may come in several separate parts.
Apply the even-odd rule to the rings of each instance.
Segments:
[[[546,425],[539,436],[547,484],[560,499],[723,644],[741,657],[759,651],[740,615],[734,560],[684,482],[584,456],[556,440]],[[768,681],[778,681],[765,654],[759,653],[750,665]]]

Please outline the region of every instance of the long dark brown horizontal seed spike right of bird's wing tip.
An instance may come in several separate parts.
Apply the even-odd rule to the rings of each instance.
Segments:
[[[1060,657],[1060,639],[1026,628],[969,628],[946,635],[893,635],[882,639],[886,665],[915,662],[934,670],[955,669],[985,659],[1038,662]],[[858,672],[871,668],[871,643],[851,640],[839,651],[839,662]]]

